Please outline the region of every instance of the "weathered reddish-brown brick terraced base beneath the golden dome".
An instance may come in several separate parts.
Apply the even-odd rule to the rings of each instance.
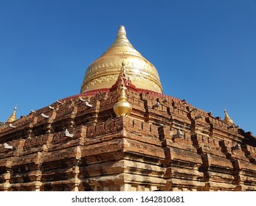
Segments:
[[[0,129],[0,191],[256,190],[252,134],[185,101],[133,90],[131,115],[117,118],[117,98],[83,93]]]

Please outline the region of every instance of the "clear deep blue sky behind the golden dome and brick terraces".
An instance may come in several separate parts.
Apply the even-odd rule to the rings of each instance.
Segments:
[[[0,121],[80,93],[121,24],[165,94],[256,135],[253,0],[0,0]]]

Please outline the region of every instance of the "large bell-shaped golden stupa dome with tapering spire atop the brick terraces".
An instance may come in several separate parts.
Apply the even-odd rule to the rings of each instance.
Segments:
[[[126,74],[136,88],[162,93],[156,68],[131,45],[126,37],[125,26],[119,27],[114,43],[87,68],[81,93],[111,88],[117,82],[123,62]]]

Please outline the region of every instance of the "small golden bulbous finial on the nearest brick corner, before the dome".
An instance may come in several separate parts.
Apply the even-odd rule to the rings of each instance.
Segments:
[[[131,104],[128,102],[128,98],[126,96],[127,88],[125,87],[125,63],[122,63],[122,68],[120,71],[120,75],[117,79],[119,82],[117,93],[120,95],[118,98],[118,102],[114,104],[114,113],[117,116],[129,116],[132,110]],[[127,79],[126,79],[127,80]]]

